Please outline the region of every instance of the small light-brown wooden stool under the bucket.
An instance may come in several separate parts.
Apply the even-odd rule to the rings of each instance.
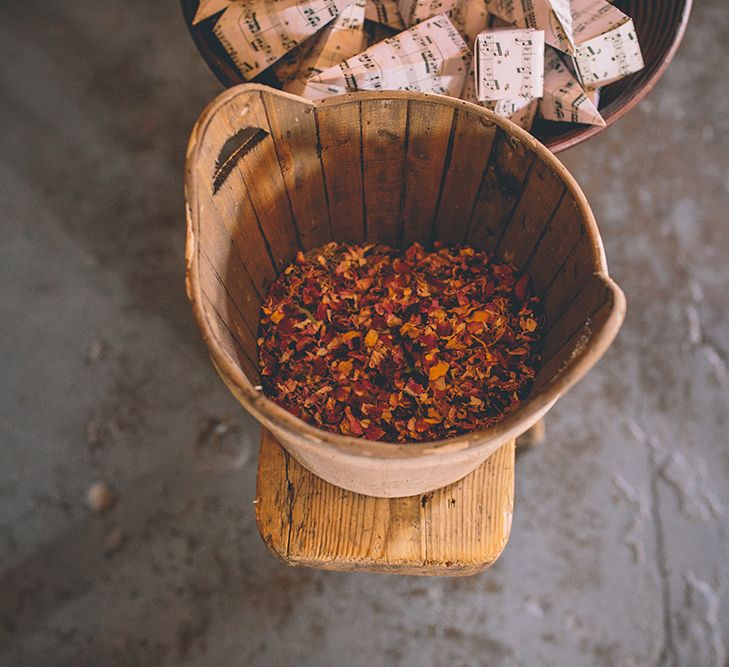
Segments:
[[[256,522],[287,565],[416,575],[476,574],[501,555],[514,507],[514,441],[455,484],[420,496],[373,498],[302,467],[266,430]]]

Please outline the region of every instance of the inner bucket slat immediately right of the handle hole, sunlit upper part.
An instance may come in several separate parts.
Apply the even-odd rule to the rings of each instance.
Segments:
[[[324,189],[324,174],[315,152],[313,107],[297,105],[278,95],[263,95],[299,239],[304,250],[332,240]]]

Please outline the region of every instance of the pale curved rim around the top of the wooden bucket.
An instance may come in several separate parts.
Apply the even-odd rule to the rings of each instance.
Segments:
[[[224,351],[208,322],[203,305],[199,276],[197,238],[201,222],[198,209],[200,179],[195,175],[195,165],[198,163],[200,153],[205,147],[206,131],[215,115],[239,96],[251,94],[276,96],[286,99],[292,104],[309,108],[335,107],[348,104],[352,101],[367,99],[405,99],[439,104],[456,109],[466,109],[470,114],[481,116],[489,123],[501,128],[516,141],[525,144],[538,158],[546,162],[555,174],[563,180],[566,188],[574,197],[586,234],[591,241],[594,266],[593,275],[602,281],[612,297],[610,310],[604,325],[596,334],[593,334],[585,351],[579,358],[570,359],[544,387],[524,399],[524,401],[519,403],[514,410],[509,412],[497,424],[486,429],[471,431],[448,439],[401,444],[354,438],[325,431],[316,426],[312,426],[286,411],[271,399],[267,398],[262,391],[255,389],[240,368],[240,365]],[[587,198],[574,177],[548,148],[527,131],[488,109],[455,98],[428,93],[387,91],[348,93],[346,95],[327,98],[322,102],[316,103],[289,93],[274,90],[261,84],[240,84],[229,88],[220,93],[208,104],[192,129],[187,146],[185,165],[185,212],[187,223],[185,285],[187,296],[191,302],[197,325],[208,346],[208,351],[218,373],[238,401],[259,422],[274,433],[283,432],[302,445],[309,444],[315,447],[336,450],[338,456],[367,457],[373,462],[376,460],[396,458],[405,462],[408,459],[413,460],[435,453],[452,453],[458,456],[459,452],[470,450],[474,447],[493,448],[495,444],[500,444],[515,438],[538,421],[562,394],[577,383],[597,363],[615,339],[625,317],[625,295],[608,274],[605,251],[597,222],[595,221]]]

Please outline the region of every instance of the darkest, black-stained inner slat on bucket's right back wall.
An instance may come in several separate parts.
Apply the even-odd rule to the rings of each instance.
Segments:
[[[469,245],[488,251],[496,248],[533,160],[524,144],[499,130],[468,226]]]

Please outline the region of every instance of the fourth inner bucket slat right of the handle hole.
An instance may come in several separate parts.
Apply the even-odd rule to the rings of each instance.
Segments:
[[[409,104],[408,149],[402,201],[402,245],[430,239],[443,180],[453,109],[441,104]]]

